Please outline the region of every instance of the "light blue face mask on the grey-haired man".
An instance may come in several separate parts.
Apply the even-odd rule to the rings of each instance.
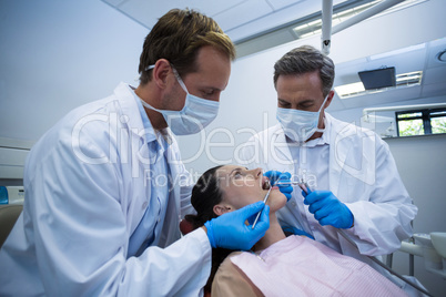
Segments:
[[[277,107],[277,121],[291,140],[295,142],[307,141],[315,132],[324,132],[324,129],[318,129],[320,114],[322,106],[327,101],[328,95],[325,98],[317,112],[300,111],[293,109]]]

